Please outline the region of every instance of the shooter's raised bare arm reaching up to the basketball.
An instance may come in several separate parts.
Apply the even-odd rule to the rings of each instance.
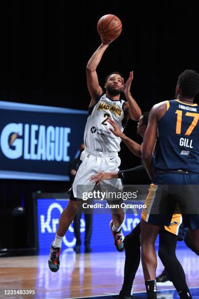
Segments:
[[[96,69],[108,45],[109,43],[106,44],[102,41],[101,45],[91,56],[86,66],[87,86],[88,86],[89,93],[91,95],[91,102],[89,107],[95,105],[96,99],[103,93],[103,89],[99,85]]]

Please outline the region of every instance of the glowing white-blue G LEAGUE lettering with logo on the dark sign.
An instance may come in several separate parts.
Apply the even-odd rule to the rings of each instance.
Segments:
[[[8,159],[70,161],[71,128],[10,123],[0,134],[0,148]]]

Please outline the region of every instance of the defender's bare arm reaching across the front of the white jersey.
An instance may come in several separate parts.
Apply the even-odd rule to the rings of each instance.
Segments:
[[[109,128],[109,130],[115,135],[121,138],[121,140],[125,143],[125,145],[132,151],[132,153],[138,157],[141,157],[141,145],[134,140],[128,138],[122,131],[119,129],[119,127],[116,125],[116,123],[108,118],[109,124],[113,128]]]

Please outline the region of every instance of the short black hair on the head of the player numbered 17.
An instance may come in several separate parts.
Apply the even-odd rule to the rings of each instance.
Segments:
[[[184,97],[194,98],[199,92],[199,74],[192,69],[186,69],[179,75],[178,85]]]

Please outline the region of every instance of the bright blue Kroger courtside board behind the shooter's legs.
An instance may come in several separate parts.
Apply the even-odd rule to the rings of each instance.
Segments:
[[[50,245],[55,238],[60,220],[60,214],[68,204],[68,200],[56,199],[37,199],[37,229],[38,245],[40,251],[49,251]],[[91,246],[93,252],[115,251],[114,240],[109,228],[111,220],[110,214],[93,214],[93,232],[91,237]],[[129,234],[132,229],[139,223],[140,214],[126,214],[122,225],[124,235]],[[99,227],[100,232],[99,234]],[[85,221],[82,214],[80,221],[80,235],[82,244],[84,243]],[[73,248],[76,244],[73,224],[70,225],[68,232],[63,237],[62,250]],[[100,246],[103,244],[103,246]]]

